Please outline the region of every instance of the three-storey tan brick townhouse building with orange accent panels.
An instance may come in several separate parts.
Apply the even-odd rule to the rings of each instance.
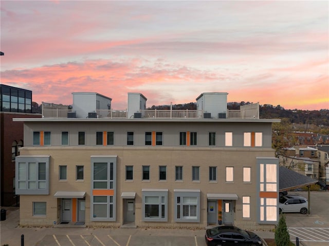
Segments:
[[[227,110],[228,93],[202,93],[197,110],[146,110],[128,93],[128,109],[113,110],[109,97],[72,94],[60,117],[13,119],[24,122],[21,226],[275,228],[280,120],[260,119],[258,104]]]

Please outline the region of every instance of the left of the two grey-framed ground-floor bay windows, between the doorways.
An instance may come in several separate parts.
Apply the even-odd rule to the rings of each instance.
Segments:
[[[143,221],[168,221],[168,190],[142,189]]]

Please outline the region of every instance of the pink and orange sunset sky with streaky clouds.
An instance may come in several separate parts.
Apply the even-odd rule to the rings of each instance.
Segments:
[[[33,101],[127,93],[147,107],[203,92],[329,109],[328,1],[0,1],[1,84]]]

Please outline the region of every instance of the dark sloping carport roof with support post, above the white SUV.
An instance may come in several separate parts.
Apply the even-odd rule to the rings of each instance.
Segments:
[[[318,180],[307,177],[305,175],[299,174],[292,171],[286,167],[279,167],[279,191],[294,190],[301,187],[307,186],[307,200],[308,208],[307,213],[310,212],[310,185],[317,183]]]

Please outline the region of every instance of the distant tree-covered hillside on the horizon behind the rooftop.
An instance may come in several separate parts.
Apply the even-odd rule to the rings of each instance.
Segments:
[[[240,106],[250,104],[242,101],[241,103],[228,103],[227,108],[230,110],[240,109]],[[172,106],[174,110],[196,110],[196,103],[188,104],[175,104]],[[148,109],[170,109],[170,105],[152,106]],[[286,110],[280,105],[273,106],[270,104],[264,104],[259,106],[260,118],[262,119],[273,119],[273,118],[288,118],[291,124],[302,124],[302,125],[315,125],[315,126],[326,126],[329,127],[329,110]]]

